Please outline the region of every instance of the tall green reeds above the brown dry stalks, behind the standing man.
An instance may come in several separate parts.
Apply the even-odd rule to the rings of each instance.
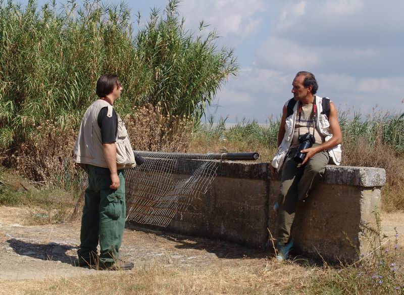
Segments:
[[[35,137],[46,120],[77,126],[107,72],[124,86],[121,115],[160,102],[165,114],[198,120],[238,66],[214,32],[202,37],[203,23],[196,34],[185,29],[178,3],[151,10],[144,25],[138,13],[136,26],[125,3],[0,0],[0,145]]]

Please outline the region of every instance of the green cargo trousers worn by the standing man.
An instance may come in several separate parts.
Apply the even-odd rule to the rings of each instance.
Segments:
[[[99,241],[99,266],[109,267],[119,259],[119,248],[125,228],[125,175],[118,170],[120,186],[111,189],[108,168],[87,165],[88,187],[84,195],[81,218],[79,264],[97,263]]]

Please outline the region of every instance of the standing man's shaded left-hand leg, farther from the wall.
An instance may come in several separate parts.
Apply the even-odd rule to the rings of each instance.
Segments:
[[[88,187],[84,194],[84,208],[81,218],[80,248],[77,251],[79,265],[96,265],[98,263],[97,245],[98,245],[98,208],[99,196],[94,191],[93,167],[88,165]]]

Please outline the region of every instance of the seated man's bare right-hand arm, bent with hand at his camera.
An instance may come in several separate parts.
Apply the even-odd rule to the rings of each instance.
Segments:
[[[321,151],[326,151],[332,149],[335,145],[342,143],[342,133],[341,127],[338,122],[338,114],[337,109],[335,108],[334,103],[330,102],[330,114],[328,116],[328,122],[330,123],[330,130],[332,133],[332,137],[330,140],[323,142],[319,146],[311,147],[310,149],[301,150],[301,153],[306,154],[305,160],[301,163],[304,165],[307,161],[313,158],[314,155]]]

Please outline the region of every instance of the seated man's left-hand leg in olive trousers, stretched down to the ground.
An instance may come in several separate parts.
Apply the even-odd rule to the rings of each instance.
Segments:
[[[297,149],[290,150],[282,168],[282,185],[279,200],[279,229],[277,236],[277,240],[280,243],[287,243],[289,240],[290,229],[297,207],[297,186],[303,171],[301,165],[293,160],[296,151]]]

